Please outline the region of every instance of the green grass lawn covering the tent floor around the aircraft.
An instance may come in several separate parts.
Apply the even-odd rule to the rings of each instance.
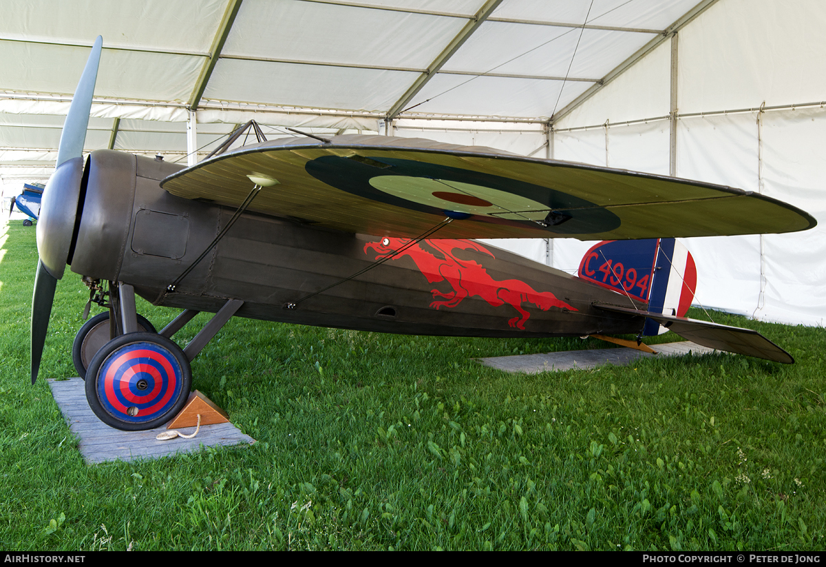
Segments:
[[[90,466],[45,383],[74,375],[88,292],[60,281],[32,387],[34,229],[0,241],[0,549],[824,549],[823,329],[715,313],[796,364],[528,376],[472,358],[607,345],[232,320],[194,387],[259,442]]]

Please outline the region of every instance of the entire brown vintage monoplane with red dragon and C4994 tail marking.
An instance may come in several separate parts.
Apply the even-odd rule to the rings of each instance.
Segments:
[[[69,264],[90,302],[108,307],[78,331],[73,355],[90,406],[111,426],[173,417],[190,361],[233,316],[494,337],[642,336],[653,322],[653,332],[662,324],[702,345],[792,362],[754,331],[681,317],[693,284],[686,255],[680,267],[666,239],[815,225],[795,207],[710,183],[389,136],[265,141],[186,169],[112,150],[84,164],[101,45],[40,210],[31,380]],[[576,277],[468,240],[557,236],[613,242],[591,249]],[[672,293],[662,283],[675,273]],[[184,311],[155,332],[135,293]],[[170,337],[202,311],[216,315],[181,349]]]

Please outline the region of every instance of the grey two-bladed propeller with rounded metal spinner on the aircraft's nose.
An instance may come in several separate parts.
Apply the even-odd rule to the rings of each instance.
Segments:
[[[57,280],[63,277],[69,259],[83,179],[83,142],[86,141],[102,44],[102,37],[97,36],[60,134],[55,173],[46,183],[40,204],[40,220],[37,222],[40,260],[31,298],[31,384],[35,383],[40,369]]]

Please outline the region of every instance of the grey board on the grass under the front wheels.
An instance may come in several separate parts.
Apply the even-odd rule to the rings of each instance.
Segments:
[[[80,452],[89,464],[111,460],[157,459],[178,453],[193,453],[203,447],[252,445],[255,440],[241,433],[231,423],[201,426],[192,439],[176,437],[169,441],[155,439],[166,426],[147,431],[120,431],[100,421],[89,408],[83,380],[48,380],[52,395],[69,429],[80,440]],[[192,434],[195,427],[179,429]]]

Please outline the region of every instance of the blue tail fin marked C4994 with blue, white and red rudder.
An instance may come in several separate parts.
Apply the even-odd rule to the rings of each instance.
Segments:
[[[579,264],[579,277],[648,303],[648,312],[683,317],[691,307],[697,269],[691,252],[673,238],[602,241]],[[653,319],[643,336],[668,331]]]

